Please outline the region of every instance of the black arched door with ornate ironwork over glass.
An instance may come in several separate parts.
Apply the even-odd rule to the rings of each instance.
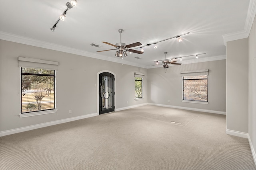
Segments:
[[[114,75],[108,72],[103,72],[100,78],[100,112],[108,113],[114,111]]]

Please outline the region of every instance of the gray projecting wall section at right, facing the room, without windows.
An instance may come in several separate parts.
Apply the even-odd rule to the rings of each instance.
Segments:
[[[227,42],[227,126],[248,133],[248,38]]]

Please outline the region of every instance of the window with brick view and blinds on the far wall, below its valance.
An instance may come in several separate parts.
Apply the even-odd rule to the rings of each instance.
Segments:
[[[182,100],[208,102],[208,75],[183,76]]]

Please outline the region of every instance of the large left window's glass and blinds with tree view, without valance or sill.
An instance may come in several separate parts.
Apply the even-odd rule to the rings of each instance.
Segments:
[[[21,112],[55,109],[55,70],[21,68]]]

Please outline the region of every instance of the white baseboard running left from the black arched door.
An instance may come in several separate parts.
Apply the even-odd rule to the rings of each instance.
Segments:
[[[12,135],[14,133],[20,133],[20,132],[24,132],[24,131],[30,131],[33,129],[38,129],[38,128],[42,128],[42,127],[47,127],[47,126],[52,126],[52,125],[57,125],[57,124],[61,124],[61,123],[66,123],[66,122],[70,122],[70,121],[75,121],[75,120],[79,120],[79,119],[84,119],[84,118],[88,118],[88,117],[93,117],[98,115],[97,113],[91,113],[88,115],[82,115],[82,116],[77,116],[77,117],[71,117],[71,118],[67,118],[67,119],[61,119],[61,120],[57,120],[57,121],[51,121],[51,122],[47,122],[47,123],[40,123],[37,125],[31,125],[31,126],[26,126],[26,127],[20,127],[17,129],[11,129],[11,130],[7,130],[7,131],[1,131],[0,132],[0,137],[2,136],[6,136],[6,135]]]

